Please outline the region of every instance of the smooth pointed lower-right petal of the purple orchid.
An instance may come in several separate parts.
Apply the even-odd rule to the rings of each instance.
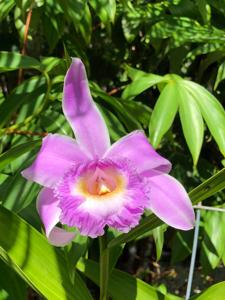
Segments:
[[[160,174],[148,178],[150,209],[168,225],[189,230],[193,228],[195,215],[182,184],[175,178]]]

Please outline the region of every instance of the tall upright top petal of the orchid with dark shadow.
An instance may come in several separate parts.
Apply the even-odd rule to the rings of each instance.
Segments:
[[[101,157],[110,146],[105,122],[92,100],[85,67],[73,59],[64,81],[63,112],[81,147]]]

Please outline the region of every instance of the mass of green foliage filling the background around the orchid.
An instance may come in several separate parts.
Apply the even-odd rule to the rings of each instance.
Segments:
[[[224,0],[0,0],[1,300],[27,299],[28,285],[47,299],[86,300],[95,297],[86,278],[99,284],[87,259],[93,241],[48,245],[35,209],[40,188],[20,175],[48,132],[72,136],[61,110],[70,57],[86,65],[112,142],[143,129],[191,191],[225,165],[224,24]],[[221,171],[191,199],[225,208],[224,182]],[[210,272],[225,264],[225,214],[201,216],[199,263]],[[159,260],[165,231],[150,215],[128,235],[109,233],[112,299],[179,299],[114,268],[121,244],[140,238],[153,237]],[[171,262],[188,259],[192,233],[171,234]],[[212,294],[222,299],[224,283],[198,299]]]

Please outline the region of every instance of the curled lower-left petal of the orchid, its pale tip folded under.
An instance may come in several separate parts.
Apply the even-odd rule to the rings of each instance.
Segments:
[[[50,244],[65,246],[74,239],[74,232],[55,227],[59,222],[61,209],[58,207],[58,200],[54,197],[51,189],[44,188],[41,190],[37,199],[37,210],[44,224],[45,233]]]

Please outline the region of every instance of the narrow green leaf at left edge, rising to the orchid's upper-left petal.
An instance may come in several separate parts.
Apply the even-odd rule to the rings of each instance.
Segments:
[[[30,141],[28,143],[13,147],[8,151],[2,153],[0,155],[0,170],[4,169],[4,167],[11,163],[14,159],[34,149],[35,147],[39,147],[40,145],[41,140]]]

